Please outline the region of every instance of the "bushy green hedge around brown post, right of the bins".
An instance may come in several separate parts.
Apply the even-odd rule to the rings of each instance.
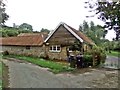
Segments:
[[[98,46],[94,46],[91,51],[85,52],[83,56],[83,62],[85,62],[85,66],[92,66],[93,64],[97,66],[104,63],[105,59],[105,50]]]

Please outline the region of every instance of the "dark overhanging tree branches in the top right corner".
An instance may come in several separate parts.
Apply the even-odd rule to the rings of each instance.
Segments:
[[[98,15],[98,19],[105,22],[104,28],[108,30],[114,29],[116,32],[116,40],[120,39],[120,1],[116,0],[104,0],[100,2],[88,1],[85,2],[85,8],[89,8],[89,12],[95,12],[95,15]],[[92,16],[95,16],[92,15]],[[87,16],[90,17],[90,16]]]

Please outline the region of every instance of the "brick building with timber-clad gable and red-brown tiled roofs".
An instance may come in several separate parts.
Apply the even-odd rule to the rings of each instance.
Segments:
[[[26,33],[17,37],[1,38],[0,47],[2,51],[10,54],[48,57],[50,59],[67,59],[67,50],[72,53],[70,46],[75,41],[81,43],[81,52],[90,50],[95,45],[82,32],[75,30],[71,26],[60,23],[49,35],[45,33]]]

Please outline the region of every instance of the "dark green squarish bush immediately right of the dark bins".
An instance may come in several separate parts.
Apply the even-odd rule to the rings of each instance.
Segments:
[[[88,67],[93,65],[92,55],[83,55],[83,66]]]

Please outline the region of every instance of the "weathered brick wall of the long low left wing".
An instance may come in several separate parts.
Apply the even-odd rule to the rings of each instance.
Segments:
[[[43,57],[45,55],[43,46],[31,46],[30,49],[26,49],[25,46],[2,46],[2,51],[8,51],[10,54],[26,56]]]

